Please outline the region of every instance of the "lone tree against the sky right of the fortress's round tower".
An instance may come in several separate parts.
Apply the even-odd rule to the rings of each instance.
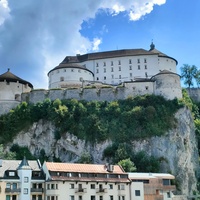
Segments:
[[[194,85],[194,80],[198,80],[198,70],[195,65],[188,65],[184,64],[181,67],[181,78],[184,80],[184,84],[188,85],[190,88],[191,86]]]

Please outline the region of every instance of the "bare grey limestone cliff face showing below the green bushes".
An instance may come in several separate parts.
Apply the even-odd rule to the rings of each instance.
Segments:
[[[175,175],[181,193],[188,195],[196,190],[197,183],[195,174],[198,170],[198,148],[195,127],[187,108],[180,109],[176,113],[176,119],[176,127],[164,136],[133,141],[132,146],[135,152],[144,150],[149,155],[160,158],[162,171]],[[94,145],[69,133],[56,140],[55,134],[56,129],[50,122],[40,120],[28,131],[18,134],[12,144],[27,146],[36,156],[43,150],[50,160],[57,157],[62,162],[75,162],[87,152],[94,163],[104,163],[103,150],[112,143],[105,141]]]

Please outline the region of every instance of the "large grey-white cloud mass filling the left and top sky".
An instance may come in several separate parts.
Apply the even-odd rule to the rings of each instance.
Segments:
[[[84,0],[78,4],[74,0],[0,0],[0,64],[17,71],[35,88],[46,88],[47,72],[66,55],[99,49],[102,39],[95,36],[89,40],[81,35],[84,20],[95,18],[102,9],[111,15],[126,11],[130,20],[138,20],[154,5],[164,3],[165,0]],[[101,37],[107,31],[103,26]]]

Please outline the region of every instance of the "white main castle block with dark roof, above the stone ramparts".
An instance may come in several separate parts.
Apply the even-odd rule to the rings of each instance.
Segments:
[[[149,51],[124,49],[66,56],[48,73],[49,88],[64,88],[66,82],[80,83],[82,80],[117,85],[138,78],[151,78],[163,70],[176,73],[177,63],[174,58],[155,49],[153,43]]]

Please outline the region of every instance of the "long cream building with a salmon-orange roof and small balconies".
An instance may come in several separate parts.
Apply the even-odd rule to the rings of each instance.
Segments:
[[[50,163],[45,200],[130,200],[128,174],[118,165]]]

